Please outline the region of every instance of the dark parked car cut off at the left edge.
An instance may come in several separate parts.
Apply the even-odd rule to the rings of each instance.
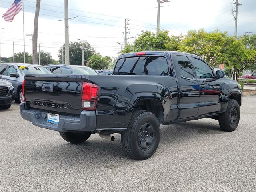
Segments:
[[[14,89],[12,84],[0,77],[0,108],[8,109],[14,102]]]

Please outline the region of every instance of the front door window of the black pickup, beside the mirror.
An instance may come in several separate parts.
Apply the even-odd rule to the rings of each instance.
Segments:
[[[212,69],[205,62],[196,58],[191,58],[191,60],[199,78],[214,78]]]

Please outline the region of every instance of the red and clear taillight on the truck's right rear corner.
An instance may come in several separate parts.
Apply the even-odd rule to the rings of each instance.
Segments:
[[[95,110],[98,100],[99,87],[95,84],[82,82],[82,107],[84,110]]]

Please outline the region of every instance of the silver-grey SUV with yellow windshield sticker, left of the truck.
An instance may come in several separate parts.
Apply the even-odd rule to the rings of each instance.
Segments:
[[[0,77],[12,83],[15,92],[15,100],[22,102],[21,86],[25,75],[52,74],[41,65],[24,63],[0,64]]]

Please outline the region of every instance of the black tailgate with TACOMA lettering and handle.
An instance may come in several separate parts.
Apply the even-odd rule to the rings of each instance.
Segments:
[[[58,114],[77,114],[82,111],[82,76],[38,75],[25,76],[25,98],[31,108]]]

